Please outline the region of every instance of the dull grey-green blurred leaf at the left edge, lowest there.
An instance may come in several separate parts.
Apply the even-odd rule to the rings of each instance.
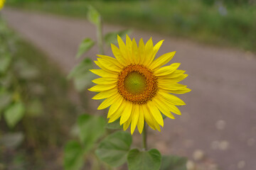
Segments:
[[[24,140],[24,135],[22,132],[8,133],[1,136],[0,145],[4,147],[9,147],[15,149],[18,145],[21,145],[21,142]]]

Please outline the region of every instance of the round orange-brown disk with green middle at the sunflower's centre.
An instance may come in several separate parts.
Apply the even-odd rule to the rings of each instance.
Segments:
[[[119,72],[117,90],[126,101],[144,104],[156,96],[157,77],[142,64],[129,64]]]

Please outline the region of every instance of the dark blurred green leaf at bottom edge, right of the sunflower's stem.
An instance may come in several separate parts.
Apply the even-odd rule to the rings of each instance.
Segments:
[[[163,156],[161,160],[161,170],[186,170],[186,157],[175,155]]]

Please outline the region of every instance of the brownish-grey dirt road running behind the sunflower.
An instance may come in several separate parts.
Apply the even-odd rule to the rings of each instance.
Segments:
[[[4,11],[4,17],[65,73],[77,62],[81,40],[95,39],[95,28],[87,21],[11,9]],[[104,31],[120,28],[105,26]],[[166,119],[161,133],[151,132],[151,141],[156,141],[151,147],[191,159],[196,149],[202,149],[203,161],[215,162],[220,169],[256,169],[256,56],[139,30],[132,37],[152,37],[154,43],[164,39],[159,55],[176,50],[172,62],[181,62],[181,69],[190,75],[184,84],[192,91],[181,96],[187,103],[181,108],[183,115]],[[110,50],[107,53],[111,55]],[[95,54],[94,48],[86,56]]]

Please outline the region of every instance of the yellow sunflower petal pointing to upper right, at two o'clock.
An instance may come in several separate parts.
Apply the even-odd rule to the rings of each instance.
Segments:
[[[149,65],[149,69],[154,70],[154,69],[158,69],[159,67],[163,66],[164,64],[169,62],[174,57],[175,53],[176,52],[169,52],[164,55],[161,55],[156,60],[151,62],[151,64]]]

